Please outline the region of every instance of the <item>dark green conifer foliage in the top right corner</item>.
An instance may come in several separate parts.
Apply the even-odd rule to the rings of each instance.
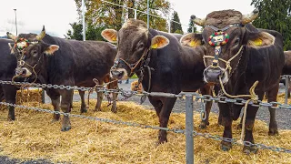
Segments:
[[[272,29],[284,38],[284,49],[291,49],[291,0],[252,0],[251,5],[259,10],[253,25]]]

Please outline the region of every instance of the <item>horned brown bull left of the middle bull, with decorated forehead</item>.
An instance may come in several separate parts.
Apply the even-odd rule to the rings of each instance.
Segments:
[[[96,78],[102,83],[116,56],[116,48],[112,44],[101,41],[66,40],[45,35],[45,26],[40,35],[14,36],[7,33],[7,36],[15,41],[12,50],[17,58],[15,69],[17,78],[28,78],[32,81],[38,79],[43,84],[94,87],[95,82],[92,79]],[[55,111],[61,108],[65,113],[70,112],[73,90],[46,89],[46,93],[51,97]],[[101,94],[98,93],[98,97],[101,97]],[[61,102],[60,96],[62,96]],[[82,107],[82,112],[85,112],[84,98],[82,98]],[[98,99],[95,110],[100,108],[101,101]],[[114,112],[115,108],[114,104],[112,108]],[[54,114],[53,121],[58,121],[59,118],[60,115]],[[64,116],[61,130],[69,129],[71,129],[70,119]]]

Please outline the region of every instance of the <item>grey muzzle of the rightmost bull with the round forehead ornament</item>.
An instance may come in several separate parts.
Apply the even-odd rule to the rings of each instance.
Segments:
[[[207,67],[204,70],[204,79],[206,83],[219,84],[219,77],[222,77],[222,79],[224,79],[224,76],[225,76],[224,71],[221,70],[221,68],[219,67],[216,68]]]

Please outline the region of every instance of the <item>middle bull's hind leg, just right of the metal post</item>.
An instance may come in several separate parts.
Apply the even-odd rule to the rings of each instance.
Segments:
[[[200,92],[201,92],[202,95],[211,95],[211,96],[213,96],[211,87],[207,86],[207,85],[205,87],[201,87],[200,88]],[[203,116],[203,118],[206,117],[206,120],[201,120],[199,128],[206,128],[206,126],[209,125],[209,113],[210,113],[211,107],[212,107],[212,101],[207,101],[206,102],[206,114],[204,113],[204,116]]]

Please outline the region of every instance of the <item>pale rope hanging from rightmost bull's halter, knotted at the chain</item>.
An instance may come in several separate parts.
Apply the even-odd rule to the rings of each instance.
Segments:
[[[255,93],[255,88],[258,84],[258,81],[256,81],[252,87],[249,88],[249,93],[250,95],[236,95],[236,96],[233,96],[233,95],[229,95],[227,92],[226,92],[226,89],[222,83],[222,80],[221,80],[221,77],[219,77],[219,83],[220,83],[220,86],[221,86],[221,89],[222,91],[224,92],[224,94],[227,96],[227,97],[232,97],[232,98],[238,98],[238,97],[249,97],[249,99],[246,101],[246,104],[245,104],[245,107],[244,107],[244,117],[243,117],[243,126],[242,126],[242,132],[240,134],[240,139],[237,141],[238,144],[241,144],[241,145],[244,145],[244,138],[245,138],[245,126],[246,126],[246,108],[247,108],[247,105],[251,102],[251,100],[253,100],[254,102],[257,102],[258,100],[258,97]]]

